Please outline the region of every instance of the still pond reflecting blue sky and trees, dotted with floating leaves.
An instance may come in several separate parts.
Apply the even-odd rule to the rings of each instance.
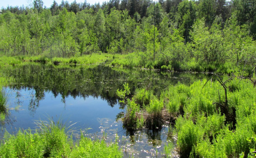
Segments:
[[[119,104],[117,89],[123,89],[123,84],[128,83],[131,96],[136,88],[141,87],[160,95],[169,85],[178,82],[190,84],[206,77],[199,73],[117,69],[104,65],[70,67],[41,64],[3,68],[1,75],[14,79],[5,88],[9,94],[12,122],[6,122],[2,128],[8,132],[35,129],[35,120],[61,119],[67,126],[75,123],[72,125],[74,138],[79,137],[80,130],[86,131],[91,138],[102,138],[107,134],[108,142],[119,137],[125,157],[160,156],[170,138],[168,126],[161,131],[126,131],[120,120],[125,105]]]

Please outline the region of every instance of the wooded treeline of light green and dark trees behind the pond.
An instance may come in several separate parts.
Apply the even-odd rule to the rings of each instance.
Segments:
[[[110,0],[7,7],[0,52],[48,57],[137,53],[158,66],[256,62],[256,0]]]

